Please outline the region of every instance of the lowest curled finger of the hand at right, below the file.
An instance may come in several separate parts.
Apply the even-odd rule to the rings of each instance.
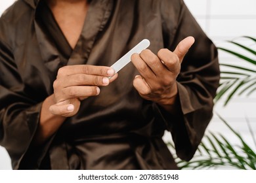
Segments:
[[[140,95],[148,95],[151,93],[150,86],[146,83],[142,76],[135,76],[135,79],[133,80],[133,86],[140,93]]]

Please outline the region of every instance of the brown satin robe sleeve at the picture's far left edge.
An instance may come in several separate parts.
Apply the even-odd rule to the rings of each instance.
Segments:
[[[12,168],[18,169],[20,161],[31,146],[39,123],[41,102],[26,95],[13,56],[8,22],[0,19],[0,145],[7,149]]]

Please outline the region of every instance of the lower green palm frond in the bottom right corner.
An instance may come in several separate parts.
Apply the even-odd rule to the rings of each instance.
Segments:
[[[256,154],[244,141],[242,136],[236,132],[219,114],[221,121],[238,137],[240,144],[232,144],[221,134],[209,132],[198,149],[200,153],[188,162],[175,158],[181,169],[210,169],[217,167],[232,167],[236,169],[256,170]]]

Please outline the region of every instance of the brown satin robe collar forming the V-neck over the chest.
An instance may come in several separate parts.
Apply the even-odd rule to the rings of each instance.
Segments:
[[[41,0],[23,1],[28,3],[36,11],[36,8]],[[72,52],[72,55],[67,63],[62,63],[60,65],[78,65],[87,63],[89,54],[91,53],[93,45],[95,44],[96,36],[104,29],[108,19],[111,16],[113,4],[114,2],[112,0],[102,0],[100,3],[98,3],[98,1],[91,1],[87,12],[87,17],[85,19],[85,24],[83,25],[81,35]],[[49,66],[51,70],[53,62],[56,62],[56,64],[60,63],[56,45],[54,45],[53,41],[46,40],[47,38],[45,37],[45,33],[36,20],[35,32],[37,35],[37,41],[39,42],[41,56],[47,65],[51,63],[51,66]]]

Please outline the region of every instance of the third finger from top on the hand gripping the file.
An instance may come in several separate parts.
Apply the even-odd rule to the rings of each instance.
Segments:
[[[65,101],[73,98],[83,98],[96,96],[100,93],[100,88],[97,86],[71,86],[62,89],[62,96],[58,97],[57,101]]]

